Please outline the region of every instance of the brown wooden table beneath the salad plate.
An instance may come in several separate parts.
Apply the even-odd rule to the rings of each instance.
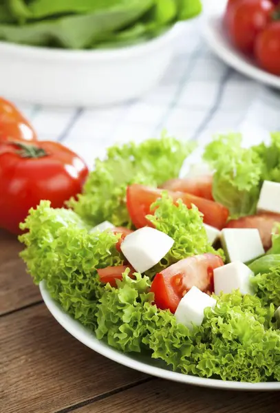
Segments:
[[[280,392],[179,385],[130,370],[89,350],[50,315],[0,231],[1,413],[277,413]]]

